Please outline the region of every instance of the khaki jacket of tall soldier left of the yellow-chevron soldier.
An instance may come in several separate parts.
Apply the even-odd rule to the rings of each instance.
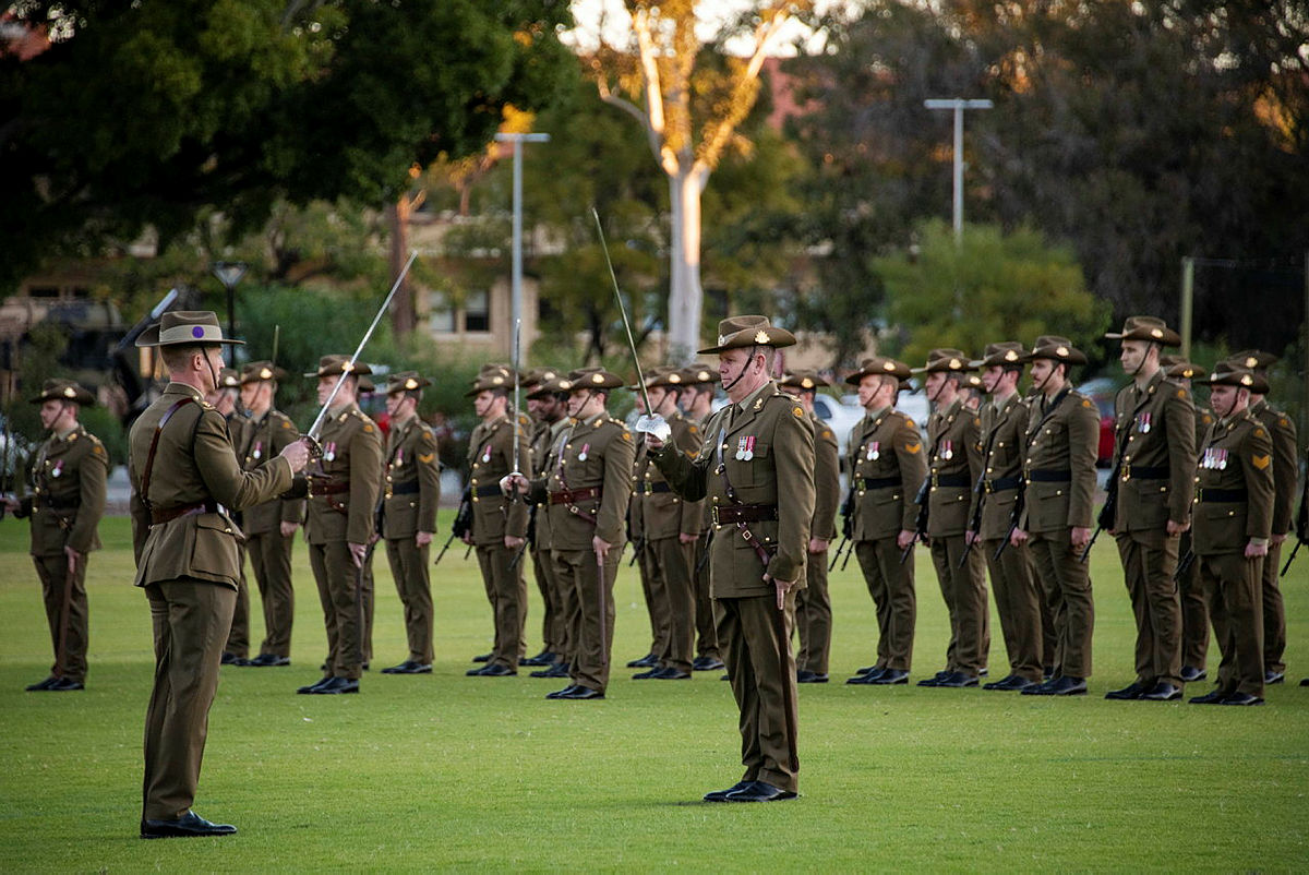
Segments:
[[[1115,532],[1185,524],[1195,475],[1195,405],[1162,368],[1144,390],[1128,382],[1114,397]],[[1145,473],[1148,477],[1143,477]]]

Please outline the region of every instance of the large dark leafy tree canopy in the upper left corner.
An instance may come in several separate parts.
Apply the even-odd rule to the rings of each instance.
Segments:
[[[22,0],[50,28],[0,54],[4,280],[39,257],[162,245],[206,208],[233,234],[279,200],[394,203],[408,170],[480,149],[575,62],[558,0]]]

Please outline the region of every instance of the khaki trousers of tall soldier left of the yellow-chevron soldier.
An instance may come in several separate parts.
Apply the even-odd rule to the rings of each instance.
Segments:
[[[1119,532],[1114,541],[1136,617],[1136,682],[1182,686],[1182,600],[1173,580],[1178,538],[1145,529]]]

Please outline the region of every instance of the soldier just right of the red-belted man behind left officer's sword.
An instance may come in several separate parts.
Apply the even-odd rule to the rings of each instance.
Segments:
[[[436,434],[418,417],[423,386],[429,385],[429,380],[412,371],[393,373],[386,381],[391,430],[386,436],[378,534],[386,540],[386,558],[404,609],[410,650],[404,661],[384,668],[384,675],[432,672],[435,616],[428,558],[436,532],[436,508],[441,502],[441,462],[436,458]]]

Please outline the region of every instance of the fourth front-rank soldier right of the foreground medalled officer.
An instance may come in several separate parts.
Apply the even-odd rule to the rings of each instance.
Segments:
[[[1022,508],[1022,444],[1028,405],[1018,396],[1026,351],[1016,341],[988,343],[982,359],[982,382],[991,401],[982,407],[982,474],[973,494],[969,519],[978,521],[967,540],[980,548],[991,572],[1009,673],[982,689],[1013,692],[1042,680],[1041,587],[1031,574],[1026,544],[1008,544]],[[1001,549],[1003,546],[1003,549]]]

